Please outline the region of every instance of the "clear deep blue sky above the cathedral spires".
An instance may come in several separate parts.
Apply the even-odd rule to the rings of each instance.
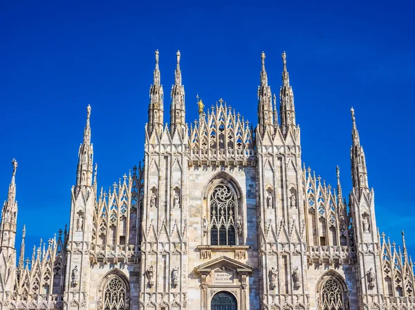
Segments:
[[[138,2],[1,3],[0,197],[16,157],[26,257],[68,222],[88,104],[98,186],[142,160],[156,49],[165,111],[180,50],[187,122],[199,93],[206,106],[223,98],[253,124],[261,51],[277,93],[286,50],[303,161],[331,184],[339,165],[349,193],[353,106],[377,224],[398,244],[405,229],[415,255],[413,3]]]

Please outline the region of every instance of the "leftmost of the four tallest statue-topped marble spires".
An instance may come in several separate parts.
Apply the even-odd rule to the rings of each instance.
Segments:
[[[147,130],[149,135],[156,128],[160,135],[163,130],[163,85],[160,84],[160,69],[158,68],[158,50],[156,50],[156,68],[153,73],[153,84],[150,86],[149,122]]]

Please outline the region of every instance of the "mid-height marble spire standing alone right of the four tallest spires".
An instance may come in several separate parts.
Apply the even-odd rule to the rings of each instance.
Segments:
[[[357,194],[360,195],[362,188],[369,188],[369,184],[367,182],[366,158],[365,153],[363,152],[363,147],[360,146],[360,139],[358,129],[356,127],[354,109],[351,108],[350,112],[352,121],[352,146],[350,151],[351,178],[353,182],[353,189],[355,189],[357,191]]]

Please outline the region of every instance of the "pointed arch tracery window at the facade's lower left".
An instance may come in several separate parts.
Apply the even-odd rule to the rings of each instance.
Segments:
[[[118,276],[111,278],[104,289],[104,310],[127,310],[127,288]]]

